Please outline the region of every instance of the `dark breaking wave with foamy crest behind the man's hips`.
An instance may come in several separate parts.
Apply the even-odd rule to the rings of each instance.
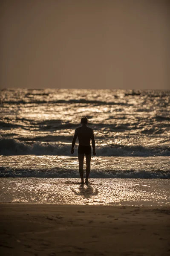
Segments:
[[[0,138],[1,155],[70,155],[69,143],[24,143],[15,139]],[[77,148],[75,148],[77,154]],[[170,156],[170,146],[144,147],[112,144],[97,148],[98,156]]]

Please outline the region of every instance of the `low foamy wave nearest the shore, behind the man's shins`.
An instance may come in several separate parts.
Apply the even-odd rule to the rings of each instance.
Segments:
[[[8,169],[0,167],[0,177],[44,177],[44,178],[79,178],[78,171],[75,169],[60,169],[53,168],[48,170],[42,169]],[[126,170],[121,172],[107,171],[107,170],[95,170],[90,172],[90,178],[136,178],[136,179],[169,179],[170,172],[162,172],[161,170],[153,171],[135,171]]]

